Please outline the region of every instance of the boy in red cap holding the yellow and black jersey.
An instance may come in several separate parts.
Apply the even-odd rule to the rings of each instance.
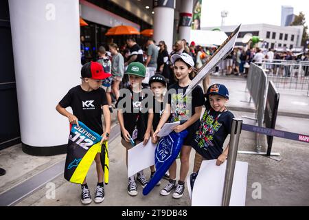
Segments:
[[[111,131],[111,113],[106,102],[106,94],[104,89],[100,88],[102,80],[111,76],[106,74],[100,63],[89,62],[82,66],[82,84],[73,87],[67,95],[59,102],[56,110],[67,117],[71,124],[77,124],[78,120],[84,122],[89,129],[98,134],[102,134],[101,144],[108,140],[108,135]],[[71,107],[73,114],[66,110]],[[102,109],[105,119],[105,129],[102,127]],[[95,203],[100,203],[104,200],[103,180],[104,173],[100,161],[100,153],[95,155],[95,163],[98,173],[98,186],[95,192]],[[82,184],[82,199],[83,204],[91,203],[91,195],[88,189],[86,178]]]

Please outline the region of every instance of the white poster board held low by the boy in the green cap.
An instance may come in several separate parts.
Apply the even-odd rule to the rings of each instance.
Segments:
[[[155,149],[157,144],[152,144],[151,138],[144,146],[143,142],[128,150],[128,177],[155,165]]]

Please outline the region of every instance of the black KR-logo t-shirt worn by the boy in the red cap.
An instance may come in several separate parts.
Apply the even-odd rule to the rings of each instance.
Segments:
[[[84,91],[78,85],[70,89],[59,102],[63,108],[71,107],[73,115],[86,124],[89,129],[102,135],[102,105],[107,104],[104,89]]]

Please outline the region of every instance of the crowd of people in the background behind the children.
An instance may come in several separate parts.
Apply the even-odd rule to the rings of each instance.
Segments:
[[[81,62],[85,63],[84,56],[84,37],[81,37]],[[143,80],[143,86],[148,87],[148,81],[151,76],[161,74],[169,85],[175,83],[174,74],[170,57],[173,54],[186,53],[192,56],[196,70],[200,69],[207,59],[212,56],[218,47],[203,47],[196,45],[194,41],[190,44],[185,40],[179,40],[172,45],[172,52],[168,52],[168,46],[164,41],[156,43],[149,39],[144,45],[138,45],[134,38],[126,39],[126,43],[119,47],[115,43],[108,45],[108,48],[103,46],[98,48],[98,57],[95,61],[102,63],[104,71],[111,73],[112,77],[104,80],[103,87],[106,90],[108,105],[110,111],[113,112],[113,103],[119,98],[119,89],[128,86],[128,77],[124,76],[126,67],[132,62],[143,63],[146,66],[146,77]],[[227,55],[223,61],[213,70],[211,75],[214,76],[244,76],[247,77],[250,63],[262,62],[273,63],[281,61],[309,61],[309,53],[293,54],[292,52],[277,52],[273,49],[262,50],[258,47],[234,47],[231,54]],[[273,72],[274,65],[266,65],[268,73]],[[305,76],[309,75],[308,68],[305,69]],[[194,76],[192,76],[194,77]]]

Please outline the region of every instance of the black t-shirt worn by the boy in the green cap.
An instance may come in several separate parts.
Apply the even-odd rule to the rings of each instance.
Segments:
[[[133,137],[133,131],[137,129],[137,138],[140,142],[144,141],[144,135],[147,129],[148,122],[148,106],[142,102],[147,95],[142,93],[134,93],[132,89],[129,89],[130,95],[124,94],[120,96],[116,103],[117,109],[122,109],[124,116],[124,127],[130,136]],[[126,104],[129,104],[127,106]],[[144,106],[145,105],[145,106]],[[124,138],[123,134],[122,138]]]

